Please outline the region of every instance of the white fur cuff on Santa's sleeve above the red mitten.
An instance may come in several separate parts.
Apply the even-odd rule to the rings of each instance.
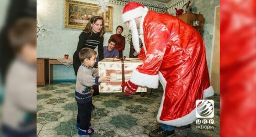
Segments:
[[[133,74],[130,81],[139,86],[146,86],[149,88],[158,88],[158,75],[148,75],[138,72],[136,69],[133,70]]]

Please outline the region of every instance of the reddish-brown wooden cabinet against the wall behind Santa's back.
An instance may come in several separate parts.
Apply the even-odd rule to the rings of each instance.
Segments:
[[[185,23],[188,23],[190,26],[194,27],[194,29],[196,29],[201,34],[201,36],[203,36],[204,18],[202,14],[187,12],[178,16],[178,18],[184,21]],[[200,23],[198,26],[193,26],[193,21],[196,21],[196,20],[198,20]]]

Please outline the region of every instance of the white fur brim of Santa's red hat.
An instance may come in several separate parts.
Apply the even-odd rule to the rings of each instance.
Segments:
[[[130,21],[132,19],[136,19],[142,15],[145,14],[146,9],[148,9],[147,7],[138,7],[138,8],[135,8],[133,10],[130,10],[130,11],[127,11],[125,13],[122,14],[122,19],[123,19],[123,23],[126,23],[127,21]]]

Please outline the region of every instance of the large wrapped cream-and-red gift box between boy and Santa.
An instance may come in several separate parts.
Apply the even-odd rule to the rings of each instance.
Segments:
[[[134,69],[143,61],[137,58],[105,58],[98,62],[99,76],[110,76],[108,83],[99,85],[100,93],[124,92],[120,85],[128,80]],[[136,92],[147,92],[146,87],[138,87]]]

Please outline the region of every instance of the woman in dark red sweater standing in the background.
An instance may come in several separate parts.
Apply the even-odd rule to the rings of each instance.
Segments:
[[[123,27],[122,26],[117,26],[116,27],[116,34],[113,34],[110,36],[110,38],[113,38],[116,40],[116,46],[115,48],[119,51],[119,57],[123,57],[123,50],[125,48],[125,37],[121,35],[123,32]]]

